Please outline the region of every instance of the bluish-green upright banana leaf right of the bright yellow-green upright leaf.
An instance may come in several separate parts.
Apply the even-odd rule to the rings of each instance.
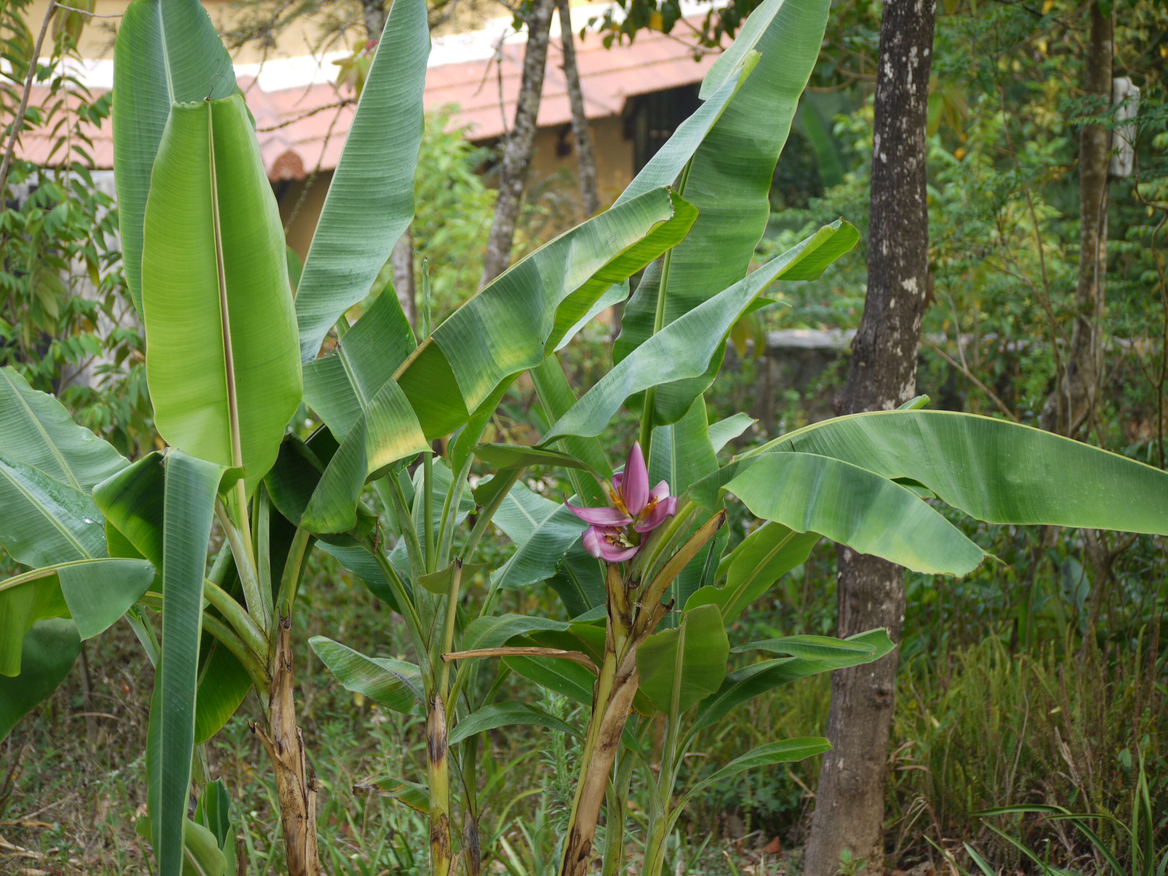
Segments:
[[[424,0],[395,2],[297,284],[305,362],[315,359],[340,315],[369,294],[390,250],[413,218],[413,173],[422,144],[422,92],[429,56]]]

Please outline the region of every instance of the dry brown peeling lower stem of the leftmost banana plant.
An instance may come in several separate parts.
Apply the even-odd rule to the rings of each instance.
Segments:
[[[307,771],[304,737],[292,698],[292,618],[280,618],[267,695],[267,732],[252,725],[276,773],[288,876],[320,876],[317,851],[317,779]]]

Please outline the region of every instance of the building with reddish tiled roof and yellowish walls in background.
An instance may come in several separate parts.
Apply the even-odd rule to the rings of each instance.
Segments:
[[[95,92],[112,88],[116,25],[111,22],[126,6],[125,0],[98,0],[96,12],[111,18],[93,19],[82,39],[79,50],[85,61],[79,78]],[[204,6],[222,32],[238,23],[239,7],[215,0],[204,0]],[[35,4],[29,20],[35,22],[44,8],[47,0]],[[578,35],[605,8],[588,2],[576,6],[572,29]],[[703,14],[696,6],[684,11],[691,18],[677,22],[672,35],[645,33],[632,46],[611,49],[605,49],[596,34],[589,34],[583,42],[577,40],[603,202],[616,199],[697,106],[698,84],[715,56],[696,56],[695,42],[682,39]],[[475,142],[491,144],[506,133],[515,116],[526,33],[514,32],[510,16],[486,18],[482,7],[475,25],[474,29],[434,37],[424,100],[427,110],[457,106],[451,124],[465,130]],[[331,50],[307,54],[306,47],[319,43],[310,28],[311,23],[284,32],[265,55],[257,54],[257,49],[236,53],[236,77],[256,117],[264,165],[285,218],[300,204],[288,229],[288,244],[301,257],[307,253],[354,112],[352,100],[347,100],[352,90],[336,84],[340,68],[334,63],[352,55],[353,46],[342,42]],[[549,48],[540,105],[533,168],[536,179],[564,168],[575,176],[576,167],[557,19],[551,33],[557,36]],[[112,169],[109,124],[95,132],[93,141],[95,164],[99,169]],[[48,157],[48,138],[26,135],[22,146],[28,160]],[[305,195],[310,179],[312,185]]]

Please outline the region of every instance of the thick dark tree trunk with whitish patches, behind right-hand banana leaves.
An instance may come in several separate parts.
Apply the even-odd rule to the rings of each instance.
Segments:
[[[925,123],[932,67],[933,0],[889,0],[881,21],[876,83],[868,294],[851,345],[839,413],[891,410],[916,392],[920,322],[929,279]],[[885,627],[894,641],[904,618],[904,571],[841,548],[839,634]],[[804,871],[834,876],[841,855],[858,872],[884,872],[884,783],[896,703],[897,652],[832,675],[827,736]]]

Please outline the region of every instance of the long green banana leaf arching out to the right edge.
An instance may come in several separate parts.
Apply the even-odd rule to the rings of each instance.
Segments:
[[[876,411],[815,423],[731,463],[690,495],[712,508],[730,479],[788,451],[911,478],[989,523],[1168,534],[1168,473],[1040,429],[951,411]]]

